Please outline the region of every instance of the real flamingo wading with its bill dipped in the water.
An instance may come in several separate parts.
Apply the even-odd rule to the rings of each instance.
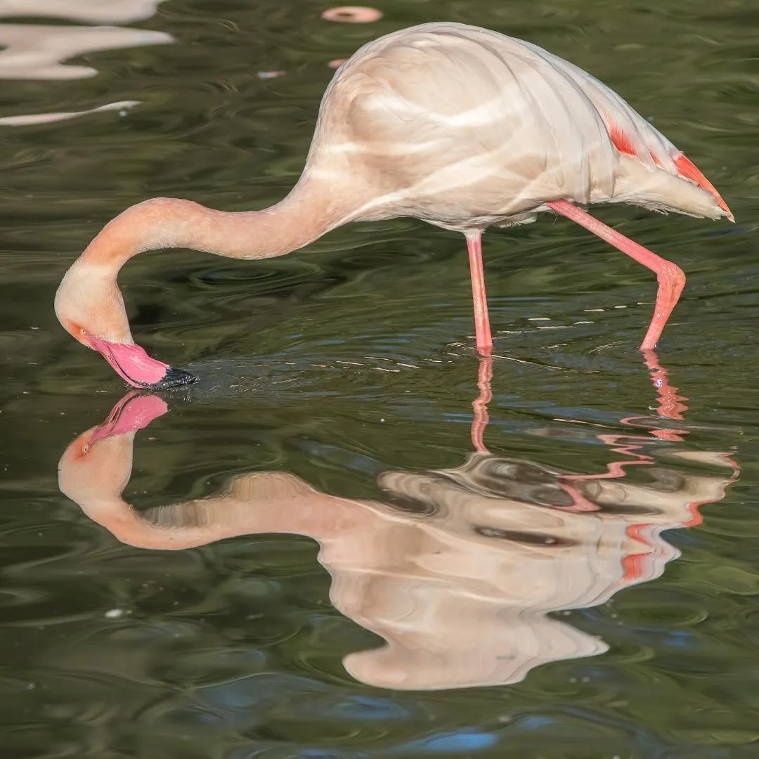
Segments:
[[[137,203],[71,265],[55,311],[129,385],[181,386],[197,378],[150,357],[132,339],[116,281],[131,257],[184,247],[270,258],[348,222],[411,216],[465,235],[477,351],[489,356],[483,231],[553,212],[656,273],[657,300],[641,345],[650,350],[685,274],[579,207],[594,203],[733,221],[684,153],[590,74],[487,29],[421,24],[368,43],[338,69],[304,171],[284,200],[241,213],[177,198]]]

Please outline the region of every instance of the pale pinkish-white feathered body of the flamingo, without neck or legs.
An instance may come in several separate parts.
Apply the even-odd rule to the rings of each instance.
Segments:
[[[725,216],[679,156],[568,61],[480,27],[436,23],[376,39],[339,69],[307,165],[345,182],[353,220],[417,216],[465,231],[531,221],[559,198]]]

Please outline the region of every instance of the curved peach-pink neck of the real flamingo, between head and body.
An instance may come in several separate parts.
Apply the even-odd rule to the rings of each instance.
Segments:
[[[230,213],[191,200],[157,197],[112,219],[80,257],[82,263],[115,266],[146,250],[187,247],[227,258],[270,258],[320,238],[339,226],[345,210],[322,187],[299,182],[262,211]]]

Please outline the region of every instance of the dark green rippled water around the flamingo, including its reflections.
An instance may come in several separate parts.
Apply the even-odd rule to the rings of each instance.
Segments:
[[[327,7],[0,2],[2,756],[755,757],[757,11]],[[487,235],[478,364],[461,238],[398,220],[138,257],[135,336],[203,379],[121,399],[71,260],[145,197],[279,200],[328,62],[435,19],[575,61],[723,193],[594,212],[688,273],[658,354],[650,272],[546,218]]]

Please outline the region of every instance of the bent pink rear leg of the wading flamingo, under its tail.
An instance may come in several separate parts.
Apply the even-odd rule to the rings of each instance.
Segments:
[[[657,280],[659,281],[657,303],[653,309],[653,317],[648,326],[648,332],[646,332],[641,345],[641,351],[652,350],[659,342],[666,320],[669,319],[669,314],[672,313],[672,309],[680,298],[682,288],[685,287],[685,274],[682,269],[672,261],[657,256],[642,245],[638,245],[637,242],[626,238],[625,235],[620,235],[618,231],[607,227],[598,219],[594,219],[589,213],[585,213],[582,209],[572,205],[568,200],[554,200],[552,203],[546,203],[546,205],[553,208],[556,213],[566,216],[567,219],[572,219],[573,222],[577,222],[581,227],[593,232],[594,235],[598,235],[602,240],[606,240],[614,247],[619,248],[622,253],[635,259],[638,263],[642,263],[652,271],[657,272]],[[474,278],[474,274],[472,276]]]

